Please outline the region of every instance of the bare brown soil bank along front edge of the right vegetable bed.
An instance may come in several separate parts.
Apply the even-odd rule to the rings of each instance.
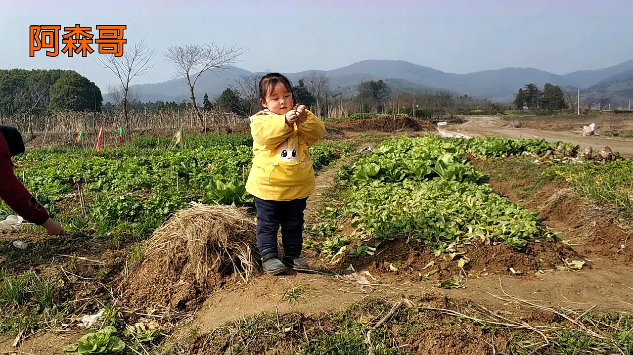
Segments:
[[[477,243],[458,248],[469,259],[464,270],[472,274],[508,275],[510,268],[520,276],[534,275],[538,270],[555,269],[556,265],[565,265],[565,259],[582,260],[582,257],[569,246],[558,242],[529,242],[525,249],[517,250],[506,244]],[[436,256],[428,247],[415,240],[394,240],[382,246],[373,256],[360,259],[348,258],[341,266],[351,263],[355,270],[367,270],[373,277],[387,280],[420,281],[431,270],[439,270],[432,279],[448,280],[460,275],[456,256],[449,254]],[[397,269],[397,270],[394,270]]]

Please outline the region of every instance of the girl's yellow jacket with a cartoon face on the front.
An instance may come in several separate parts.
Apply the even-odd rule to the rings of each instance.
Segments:
[[[306,111],[305,122],[294,127],[284,115],[263,110],[251,116],[253,167],[246,182],[249,194],[260,199],[291,201],[310,196],[315,189],[315,173],[308,146],[325,132],[325,125]]]

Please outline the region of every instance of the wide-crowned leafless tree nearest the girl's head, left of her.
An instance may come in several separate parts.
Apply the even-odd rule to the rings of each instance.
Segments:
[[[175,78],[183,78],[187,83],[191,94],[191,103],[201,123],[203,123],[203,116],[196,104],[196,95],[194,94],[198,78],[208,70],[215,73],[214,69],[225,70],[230,64],[239,63],[237,58],[244,52],[246,52],[245,47],[220,47],[215,42],[181,44],[167,48],[165,57],[168,62],[176,66]]]

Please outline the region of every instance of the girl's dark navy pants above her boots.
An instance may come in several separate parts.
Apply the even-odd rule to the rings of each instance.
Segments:
[[[255,197],[257,209],[257,247],[260,252],[277,249],[277,232],[281,226],[281,240],[284,247],[303,244],[303,211],[306,201],[270,201]]]

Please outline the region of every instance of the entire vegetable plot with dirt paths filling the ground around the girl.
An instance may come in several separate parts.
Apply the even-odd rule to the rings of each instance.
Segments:
[[[3,232],[0,350],[17,338],[32,354],[630,353],[630,313],[593,311],[630,304],[630,160],[535,139],[350,132],[310,147],[303,255],[316,272],[284,277],[234,272],[256,268],[254,230],[240,229],[254,229],[250,135],[16,157],[18,178],[69,235],[28,223]],[[206,206],[226,214],[204,229],[174,218],[195,218],[191,202],[234,208]],[[0,202],[0,217],[12,213]],[[176,227],[161,240],[180,254],[160,259],[151,242],[166,225]],[[203,244],[180,238],[192,230]],[[218,254],[228,239],[209,230],[247,252]],[[146,290],[179,301],[142,301]],[[49,351],[49,332],[68,336]]]

